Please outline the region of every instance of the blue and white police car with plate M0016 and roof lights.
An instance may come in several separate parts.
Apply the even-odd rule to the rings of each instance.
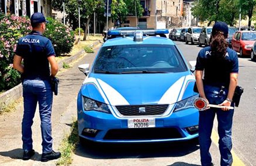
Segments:
[[[164,142],[198,137],[195,77],[168,30],[112,30],[78,93],[80,139]]]

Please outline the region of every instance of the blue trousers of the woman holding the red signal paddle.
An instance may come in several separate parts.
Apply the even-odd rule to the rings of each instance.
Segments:
[[[220,88],[204,86],[206,98],[210,104],[221,104],[227,97],[228,90],[225,89],[220,94]],[[233,106],[233,104],[232,104]],[[223,111],[217,108],[210,108],[199,112],[199,145],[202,166],[211,165],[211,154],[209,152],[211,146],[211,132],[213,128],[214,117],[217,115],[218,134],[219,134],[219,150],[220,165],[231,166],[233,162],[232,149],[232,121],[234,110]]]

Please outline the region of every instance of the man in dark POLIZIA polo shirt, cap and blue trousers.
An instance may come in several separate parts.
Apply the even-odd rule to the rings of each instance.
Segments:
[[[55,60],[55,51],[52,42],[42,36],[45,31],[46,20],[43,14],[34,13],[31,18],[32,32],[20,38],[13,67],[22,73],[24,114],[22,120],[23,160],[30,159],[35,151],[32,145],[33,117],[39,103],[42,134],[42,158],[41,161],[57,159],[60,152],[52,150],[52,98],[51,77],[58,72],[58,64]],[[22,59],[24,64],[22,64]],[[51,74],[49,69],[51,65]]]

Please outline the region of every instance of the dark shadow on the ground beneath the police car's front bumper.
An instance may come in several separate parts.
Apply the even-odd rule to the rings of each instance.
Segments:
[[[199,149],[196,140],[175,143],[79,144],[76,155],[93,159],[180,157]]]

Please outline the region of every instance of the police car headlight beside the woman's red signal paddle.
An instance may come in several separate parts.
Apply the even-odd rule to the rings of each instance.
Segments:
[[[199,94],[196,94],[192,97],[189,97],[182,101],[177,102],[173,112],[178,112],[187,108],[194,108],[194,101],[198,97],[199,97]]]

